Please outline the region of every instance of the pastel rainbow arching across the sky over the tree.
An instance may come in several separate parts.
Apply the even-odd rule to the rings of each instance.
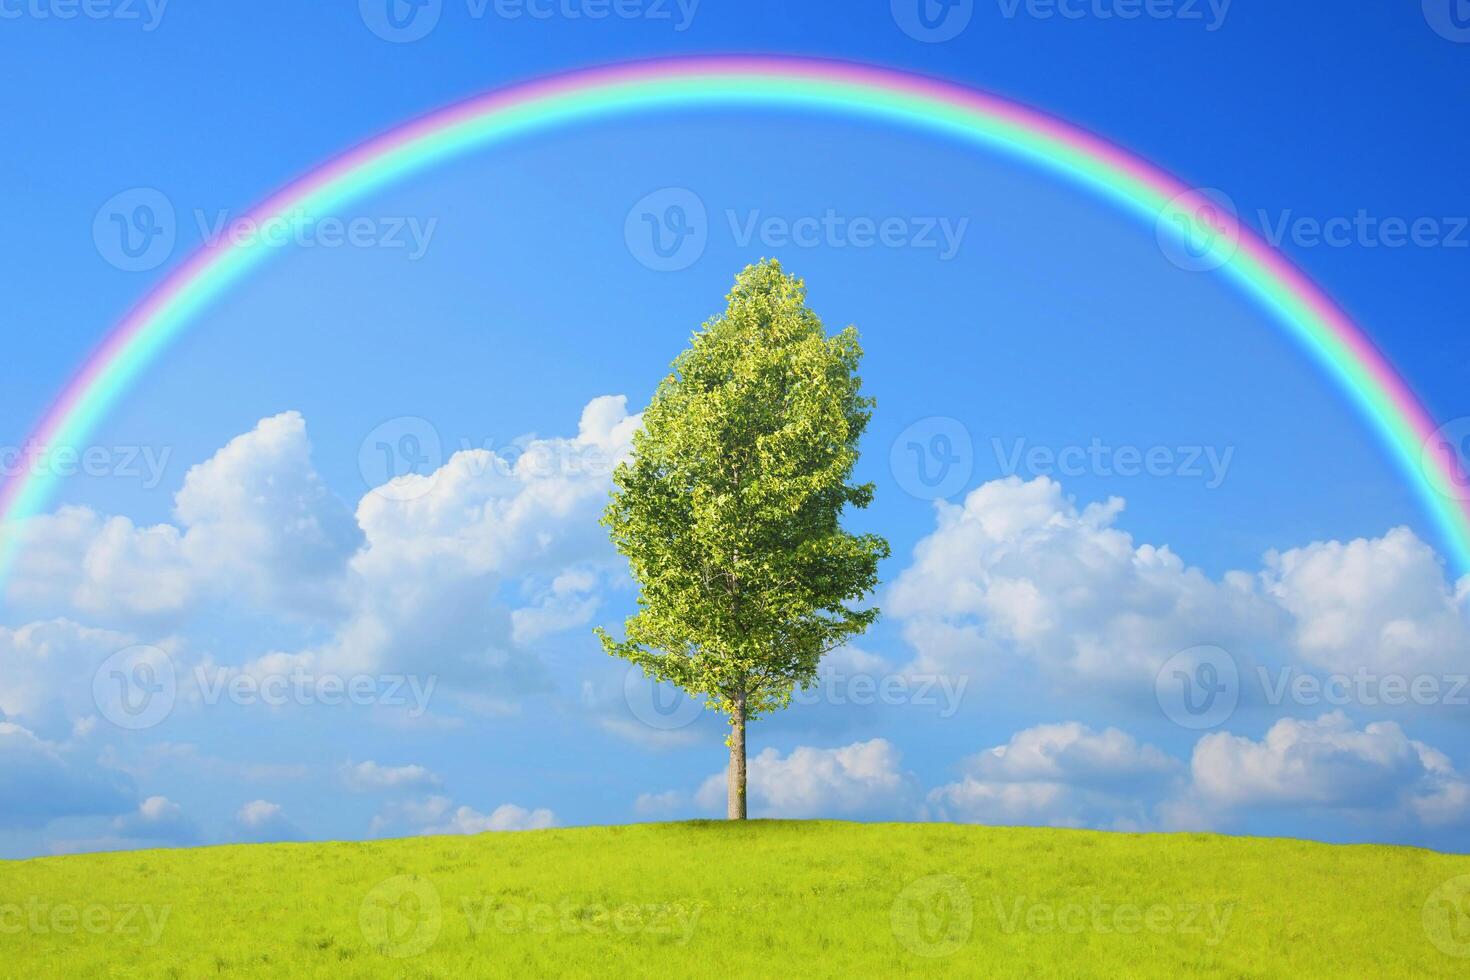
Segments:
[[[248,217],[263,226],[332,213],[456,154],[584,119],[707,107],[811,110],[914,126],[1013,154],[1154,225],[1173,225],[1164,219],[1182,215],[1185,220],[1169,234],[1205,234],[1210,267],[1233,278],[1342,385],[1416,488],[1452,561],[1470,572],[1470,502],[1452,492],[1466,485],[1464,473],[1452,454],[1426,451],[1438,445],[1430,414],[1322,289],[1233,215],[1210,209],[1189,185],[1089,132],[972,88],[797,57],[667,59],[578,71],[420,116],[301,176]],[[82,445],[169,341],[275,248],[269,239],[220,239],[179,263],[101,341],[26,444]],[[56,482],[56,476],[22,472],[0,489],[0,527],[9,527],[0,536],[0,574],[19,548],[21,522],[41,513]]]

